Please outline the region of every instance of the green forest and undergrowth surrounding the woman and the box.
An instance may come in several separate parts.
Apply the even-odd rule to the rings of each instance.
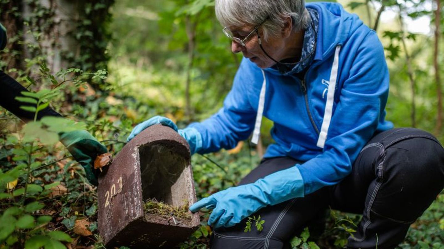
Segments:
[[[384,44],[391,75],[387,119],[444,142],[443,1],[340,3]],[[230,51],[214,0],[0,0],[0,22],[9,38],[0,69],[114,155],[149,117],[163,115],[184,128],[215,113],[242,58]],[[263,121],[258,146],[245,141],[208,155],[218,165],[193,156],[198,198],[234,186],[253,169],[272,142],[271,127]],[[95,187],[54,134],[51,125],[24,125],[0,109],[0,248],[105,248]],[[207,218],[181,248],[207,247]],[[295,234],[292,246],[343,248],[359,218],[331,210],[325,233]],[[399,248],[444,248],[443,194]]]

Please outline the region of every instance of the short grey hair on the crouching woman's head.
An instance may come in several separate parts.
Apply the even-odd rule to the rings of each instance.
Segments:
[[[264,39],[280,34],[285,18],[293,20],[293,31],[306,28],[310,15],[304,0],[216,0],[216,17],[222,26],[257,26],[269,18],[262,28]]]

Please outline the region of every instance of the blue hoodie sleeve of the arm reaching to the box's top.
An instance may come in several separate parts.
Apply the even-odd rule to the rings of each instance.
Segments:
[[[202,135],[202,148],[198,153],[234,148],[238,141],[247,139],[253,131],[256,109],[251,106],[247,96],[252,91],[251,80],[254,77],[250,75],[251,71],[245,62],[242,61],[234,78],[233,87],[218,113],[205,121],[188,126],[197,129]]]

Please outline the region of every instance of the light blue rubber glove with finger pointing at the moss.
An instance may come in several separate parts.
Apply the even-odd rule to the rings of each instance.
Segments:
[[[213,209],[208,225],[214,228],[230,227],[262,207],[297,197],[304,197],[304,182],[299,169],[294,166],[254,183],[219,191],[194,203],[190,211],[197,212],[203,207]]]

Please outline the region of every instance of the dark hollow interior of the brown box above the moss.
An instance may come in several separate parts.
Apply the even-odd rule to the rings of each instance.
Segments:
[[[172,206],[182,206],[189,200],[190,174],[184,169],[188,161],[174,147],[152,144],[139,147],[143,201],[155,199]]]

